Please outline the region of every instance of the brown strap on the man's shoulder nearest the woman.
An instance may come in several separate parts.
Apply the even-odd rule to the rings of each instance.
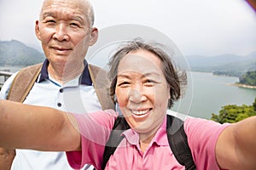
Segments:
[[[114,109],[114,104],[109,94],[110,82],[108,72],[96,65],[89,64],[90,78],[96,90],[96,95],[102,105],[102,110]]]

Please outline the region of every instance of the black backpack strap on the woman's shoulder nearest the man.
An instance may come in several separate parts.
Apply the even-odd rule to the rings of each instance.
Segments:
[[[122,139],[124,139],[124,136],[121,134],[129,128],[130,128],[130,126],[125,121],[125,117],[118,116],[114,122],[108,142],[105,145],[102,169],[105,169],[110,156],[113,155],[113,152],[116,150],[116,148],[118,147],[118,145],[120,144]]]

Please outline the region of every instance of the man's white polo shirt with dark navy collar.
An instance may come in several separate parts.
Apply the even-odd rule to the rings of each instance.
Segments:
[[[80,114],[102,110],[101,104],[96,97],[96,91],[92,86],[88,64],[85,60],[84,72],[64,85],[49,77],[48,65],[49,61],[46,59],[38,80],[34,83],[30,93],[23,102],[24,104],[48,106],[57,110]],[[1,99],[6,99],[16,74],[9,77],[4,83],[0,93]],[[71,170],[72,168],[68,165],[65,152],[16,150],[15,160],[11,169]]]

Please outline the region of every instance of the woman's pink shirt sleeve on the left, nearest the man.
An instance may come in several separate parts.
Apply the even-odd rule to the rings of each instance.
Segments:
[[[102,168],[102,157],[113,123],[118,114],[113,110],[96,111],[91,114],[73,114],[79,123],[81,151],[67,151],[67,161],[74,169],[91,164]]]

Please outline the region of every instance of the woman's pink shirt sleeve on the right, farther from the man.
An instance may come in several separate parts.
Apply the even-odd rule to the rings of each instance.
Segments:
[[[219,169],[215,146],[219,134],[230,124],[220,124],[201,118],[188,118],[184,130],[188,136],[189,148],[197,169]]]

